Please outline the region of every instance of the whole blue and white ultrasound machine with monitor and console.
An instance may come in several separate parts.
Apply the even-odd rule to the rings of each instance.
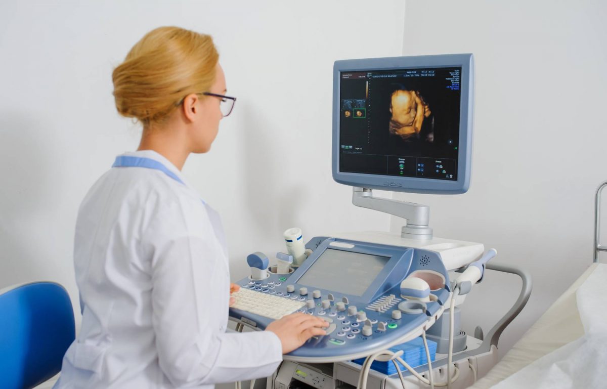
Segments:
[[[237,330],[263,330],[294,312],[330,323],[326,336],[284,356],[267,389],[464,388],[497,362],[512,312],[484,339],[480,328],[475,337],[459,330],[458,308],[495,250],[434,237],[428,206],[373,195],[466,192],[472,109],[471,54],[334,63],[333,178],[353,187],[354,205],[407,224],[400,234],[308,242],[293,228],[276,265],[262,252],[248,255],[251,276],[237,282],[229,311]]]

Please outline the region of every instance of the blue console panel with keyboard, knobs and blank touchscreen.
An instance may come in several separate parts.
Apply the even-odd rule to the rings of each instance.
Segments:
[[[419,248],[316,237],[299,268],[268,271],[238,282],[230,316],[261,330],[288,313],[329,323],[285,360],[337,362],[385,350],[421,334],[450,299],[449,275],[440,254]]]

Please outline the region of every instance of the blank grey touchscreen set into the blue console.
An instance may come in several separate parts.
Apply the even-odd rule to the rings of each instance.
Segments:
[[[326,249],[297,283],[362,296],[390,257]]]

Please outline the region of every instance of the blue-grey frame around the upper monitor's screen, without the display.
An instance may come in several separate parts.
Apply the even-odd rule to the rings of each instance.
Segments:
[[[457,180],[340,172],[339,118],[341,112],[341,72],[422,69],[431,67],[461,67]],[[465,193],[470,186],[470,173],[472,169],[473,79],[474,63],[472,54],[399,56],[335,61],[333,65],[333,180],[345,185],[381,189],[384,191],[423,194]]]

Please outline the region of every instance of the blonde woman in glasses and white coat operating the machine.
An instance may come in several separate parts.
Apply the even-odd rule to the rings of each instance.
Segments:
[[[228,256],[218,215],[181,167],[209,151],[235,98],[212,39],[161,27],[114,70],[118,112],[143,124],[135,152],[90,189],[76,222],[80,334],[55,388],[212,387],[269,376],[324,320],[293,314],[226,333]],[[233,286],[234,287],[234,286]]]

